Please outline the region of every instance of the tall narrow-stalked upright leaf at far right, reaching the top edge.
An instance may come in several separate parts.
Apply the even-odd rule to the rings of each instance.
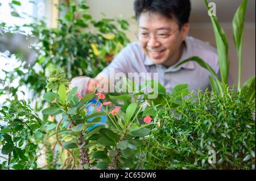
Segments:
[[[238,55],[238,90],[240,90],[241,86],[243,27],[245,23],[245,12],[247,3],[248,0],[245,0],[241,3],[236,11],[236,14],[234,15],[232,22],[233,40]]]

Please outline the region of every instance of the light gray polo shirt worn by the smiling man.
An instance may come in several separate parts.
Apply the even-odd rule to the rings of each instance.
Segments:
[[[201,40],[187,37],[183,54],[176,64],[193,56],[201,57],[218,73],[217,50]],[[209,71],[201,68],[196,62],[190,61],[177,68],[174,68],[175,65],[169,68],[163,65],[155,65],[143,53],[141,45],[138,42],[134,42],[122,49],[112,63],[102,70],[100,74],[105,73],[110,76],[110,69],[114,69],[115,73],[125,73],[126,76],[128,73],[158,73],[158,81],[166,88],[167,92],[171,92],[176,85],[181,83],[188,83],[190,90],[205,90],[210,87]]]

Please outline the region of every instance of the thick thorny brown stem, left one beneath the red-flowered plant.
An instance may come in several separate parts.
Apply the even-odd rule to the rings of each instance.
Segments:
[[[87,150],[85,149],[85,141],[82,139],[82,132],[80,133],[79,138],[80,148],[80,169],[85,170],[84,165],[88,165],[88,170],[90,170],[90,159]]]

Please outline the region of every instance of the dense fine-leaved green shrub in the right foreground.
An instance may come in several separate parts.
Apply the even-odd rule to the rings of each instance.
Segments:
[[[234,89],[222,95],[200,91],[175,110],[168,106],[172,96],[166,101],[161,128],[147,137],[147,169],[255,169],[253,102]]]

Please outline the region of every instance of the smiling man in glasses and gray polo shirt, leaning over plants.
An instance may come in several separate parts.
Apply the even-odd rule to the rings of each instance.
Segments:
[[[219,71],[217,50],[188,36],[190,1],[135,0],[134,10],[138,42],[127,45],[96,78],[77,77],[71,86],[78,86],[84,95],[93,92],[95,83],[109,83],[112,74],[158,73],[158,81],[167,92],[180,83],[188,83],[191,90],[209,87],[209,72],[195,62],[175,67],[180,61],[199,56],[216,73]]]

